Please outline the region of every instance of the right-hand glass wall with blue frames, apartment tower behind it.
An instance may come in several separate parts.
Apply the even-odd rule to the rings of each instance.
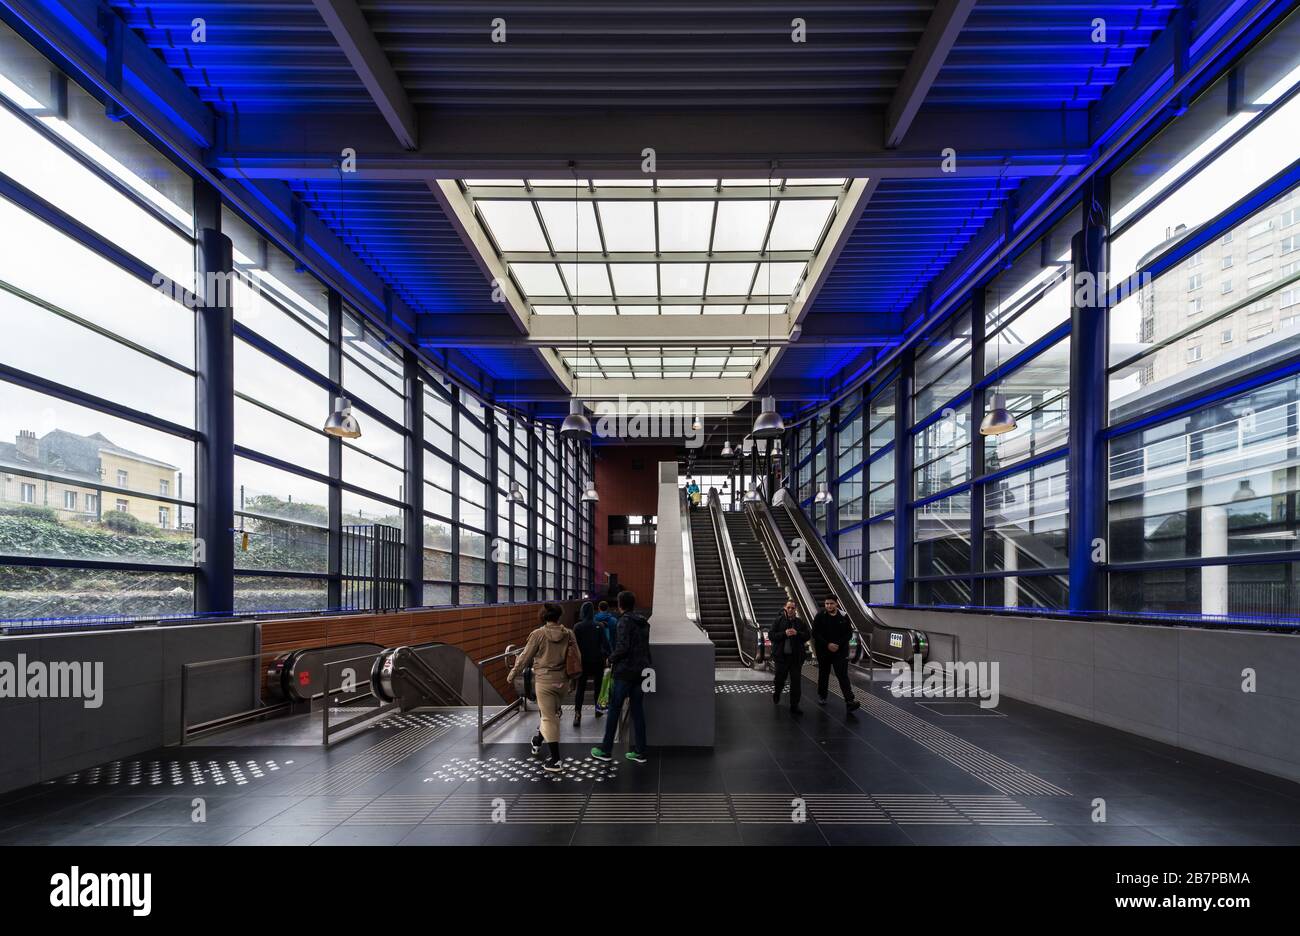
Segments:
[[[1104,177],[1109,285],[1075,277],[1076,205],[902,355],[907,399],[893,374],[868,376],[793,429],[805,504],[816,452],[835,454],[828,540],[868,602],[1295,624],[1297,100],[1292,14]],[[1074,400],[1071,306],[1098,289],[1108,386]],[[984,437],[993,394],[1017,425]],[[898,407],[907,478],[896,476]],[[1106,523],[1091,542],[1106,589],[1088,606],[1071,603],[1069,576],[1079,407],[1109,424]]]

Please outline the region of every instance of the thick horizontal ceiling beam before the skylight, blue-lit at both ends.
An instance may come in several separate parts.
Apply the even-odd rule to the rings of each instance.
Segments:
[[[651,147],[658,174],[671,178],[766,179],[775,162],[780,177],[957,182],[1072,176],[1088,161],[1088,117],[1082,109],[1062,113],[926,108],[911,122],[906,150],[884,146],[883,109],[853,121],[845,120],[842,110],[819,110],[811,105],[772,107],[760,113],[737,108],[668,113],[536,108],[437,113],[419,108],[417,112],[420,148],[406,152],[391,140],[378,114],[338,112],[322,121],[296,110],[242,109],[239,120],[229,122],[220,146],[212,150],[211,165],[237,178],[337,183],[339,152],[356,147],[356,173],[350,182],[436,183],[463,178],[572,182],[575,161],[582,178],[644,179],[644,150]],[[945,172],[941,162],[948,147],[957,151],[956,172]],[[566,194],[572,199],[572,186],[554,187],[556,198]],[[766,185],[753,187],[762,190],[754,191],[754,198],[767,196]],[[629,195],[647,198],[651,192]]]

